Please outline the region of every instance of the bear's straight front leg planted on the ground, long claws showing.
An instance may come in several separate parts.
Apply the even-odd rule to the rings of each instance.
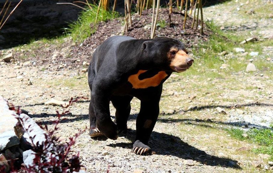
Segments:
[[[161,92],[158,94],[161,95]],[[147,144],[159,114],[160,95],[159,97],[151,96],[149,99],[141,100],[140,112],[136,121],[136,139],[133,144],[133,153],[142,155],[151,151]]]

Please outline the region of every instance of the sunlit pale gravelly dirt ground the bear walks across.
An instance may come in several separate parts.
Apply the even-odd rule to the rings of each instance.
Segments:
[[[205,15],[209,16],[212,10],[215,12],[216,7],[218,12],[236,10],[236,3],[232,3],[229,9],[225,8],[227,4],[206,8]],[[228,22],[226,18],[222,20]],[[262,29],[259,25],[257,27]],[[270,50],[261,53],[262,58],[272,56]],[[228,56],[244,57],[236,52]],[[257,145],[234,140],[224,129],[229,125],[240,127],[245,124],[268,127],[273,122],[272,71],[258,67],[256,72],[246,73],[244,66],[240,71],[227,73],[225,69],[203,67],[204,61],[195,58],[192,68],[198,69],[196,73],[172,74],[164,83],[161,114],[149,143],[156,154],[138,156],[130,153],[140,107],[140,102],[133,99],[126,136],[116,141],[105,138],[94,140],[85,132],[79,137],[73,152],[80,152],[82,165],[90,172],[133,172],[135,169],[181,173],[266,172],[253,166],[253,162],[266,163],[268,158],[240,150],[241,147],[252,149]],[[260,57],[253,59],[256,62]],[[244,64],[249,62],[248,59],[242,61]],[[56,118],[55,111],[62,110],[58,106],[44,105],[49,99],[90,97],[86,73],[79,72],[80,69],[48,71],[42,66],[33,68],[27,64],[20,66],[19,63],[18,68],[16,65],[0,66],[0,95],[29,111],[29,115],[41,124],[51,124]],[[212,73],[218,76],[214,77]],[[29,80],[32,85],[27,84]],[[57,132],[61,139],[68,140],[78,129],[88,126],[88,104],[89,100],[81,100],[70,107],[71,114],[61,121]],[[227,114],[220,114],[216,107],[221,107]],[[110,113],[115,113],[112,105]]]

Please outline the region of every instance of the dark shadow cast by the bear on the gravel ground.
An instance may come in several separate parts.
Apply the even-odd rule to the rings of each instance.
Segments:
[[[133,142],[135,139],[135,133],[135,130],[128,129],[128,133],[125,137]],[[148,145],[158,155],[175,156],[172,159],[192,159],[202,163],[203,165],[241,169],[236,160],[209,155],[205,151],[188,145],[188,143],[183,142],[179,137],[173,135],[154,131],[151,134]],[[108,146],[131,148],[132,143],[116,143],[109,144]]]

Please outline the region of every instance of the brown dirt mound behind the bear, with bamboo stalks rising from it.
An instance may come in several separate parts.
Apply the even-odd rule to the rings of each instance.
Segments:
[[[50,71],[87,68],[87,65],[83,65],[83,62],[89,62],[97,46],[110,36],[126,35],[136,39],[150,38],[151,17],[151,9],[143,11],[141,17],[134,14],[132,16],[132,27],[129,27],[128,32],[124,34],[123,17],[120,17],[111,21],[99,23],[97,31],[79,45],[75,45],[71,39],[66,38],[64,43],[61,44],[44,44],[41,42],[39,46],[36,46],[36,48],[31,51],[23,50],[23,53],[18,51],[15,54],[16,57],[20,57],[21,55],[29,57],[26,61],[33,61],[36,65],[39,64]],[[185,30],[182,29],[183,21],[184,15],[174,9],[172,14],[172,27],[169,27],[168,9],[161,8],[159,11],[155,37],[160,36],[180,39],[188,48],[197,46],[197,43],[208,39],[211,32],[206,26],[204,26],[205,34],[201,35],[200,30],[190,29],[192,24],[191,17],[188,17]]]

